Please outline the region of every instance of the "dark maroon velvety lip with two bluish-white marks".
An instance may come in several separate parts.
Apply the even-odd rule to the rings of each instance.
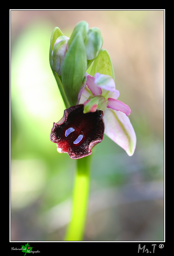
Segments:
[[[91,149],[103,140],[103,111],[83,113],[83,104],[70,107],[64,116],[53,123],[50,140],[57,151],[78,159],[92,154]]]

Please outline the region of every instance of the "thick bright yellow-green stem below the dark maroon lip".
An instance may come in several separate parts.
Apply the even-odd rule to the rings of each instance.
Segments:
[[[72,216],[65,241],[82,241],[86,224],[91,156],[77,159],[76,162]]]

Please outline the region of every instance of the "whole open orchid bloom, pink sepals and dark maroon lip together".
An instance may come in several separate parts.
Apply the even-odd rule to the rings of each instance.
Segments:
[[[57,144],[57,151],[68,153],[72,159],[85,157],[103,140],[105,132],[133,155],[136,135],[128,118],[131,110],[117,100],[119,94],[111,76],[86,73],[77,105],[65,110],[62,119],[53,124],[50,140]]]

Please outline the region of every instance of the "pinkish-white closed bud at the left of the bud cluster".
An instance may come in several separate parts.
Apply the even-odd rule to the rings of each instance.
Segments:
[[[66,36],[60,36],[56,39],[52,51],[52,69],[61,76],[62,65],[68,50],[68,40]]]

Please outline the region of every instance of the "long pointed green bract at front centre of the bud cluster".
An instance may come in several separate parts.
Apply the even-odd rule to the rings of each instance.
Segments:
[[[85,72],[87,54],[81,31],[75,35],[62,66],[62,83],[71,106],[76,105]]]

